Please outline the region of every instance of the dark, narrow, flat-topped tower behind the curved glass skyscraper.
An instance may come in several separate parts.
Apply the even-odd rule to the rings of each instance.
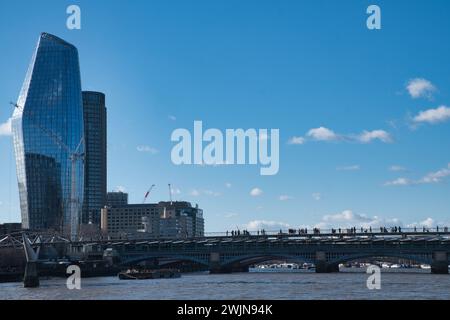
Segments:
[[[106,107],[101,92],[83,91],[84,168],[83,224],[100,227],[101,209],[106,205]]]

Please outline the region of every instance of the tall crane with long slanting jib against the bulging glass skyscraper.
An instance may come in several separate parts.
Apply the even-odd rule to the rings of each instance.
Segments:
[[[23,107],[20,107],[17,105],[17,103],[10,103],[15,108],[22,110]],[[40,131],[45,133],[50,139],[53,140],[54,143],[58,145],[59,148],[66,151],[66,153],[69,155],[69,159],[71,162],[71,186],[70,186],[70,201],[69,201],[69,213],[70,213],[70,230],[63,230],[64,232],[70,231],[70,240],[76,241],[78,234],[79,234],[79,226],[80,226],[80,200],[77,197],[77,182],[78,182],[78,175],[76,174],[76,167],[79,161],[82,161],[84,163],[85,160],[85,153],[83,150],[80,152],[80,148],[83,145],[84,142],[84,135],[82,135],[80,142],[78,143],[77,147],[74,151],[71,151],[70,148],[53,132],[47,130],[46,128],[42,127],[41,125],[34,123],[32,121],[31,123],[34,127],[38,128]],[[67,226],[64,224],[64,228],[66,229]]]

